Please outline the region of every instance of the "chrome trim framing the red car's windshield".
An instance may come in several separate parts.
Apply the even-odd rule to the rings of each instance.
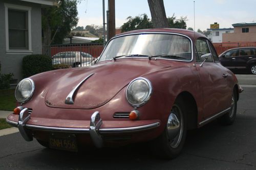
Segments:
[[[187,60],[163,59],[163,58],[157,58],[157,59],[161,59],[161,60],[174,60],[174,61],[184,61],[184,62],[191,62],[191,61],[193,61],[193,59],[194,59],[193,41],[192,41],[191,38],[189,38],[188,36],[186,36],[186,35],[184,35],[184,34],[180,34],[180,33],[172,33],[172,32],[139,32],[139,33],[127,33],[127,34],[123,34],[123,35],[117,35],[117,36],[111,38],[111,39],[109,40],[109,42],[112,41],[112,40],[115,39],[115,38],[118,38],[118,37],[129,36],[129,35],[138,35],[138,34],[173,34],[173,35],[184,36],[184,37],[186,37],[186,38],[188,38],[188,39],[190,40],[190,44],[191,44],[191,60],[187,61]],[[109,42],[106,43],[106,45],[105,45],[105,47],[104,47],[102,53],[101,53],[100,56],[99,56],[99,59],[97,60],[97,63],[98,63],[98,62],[101,62],[101,61],[99,61],[99,60],[100,60],[100,58],[101,58],[101,55],[104,53],[104,51],[105,51],[105,49],[106,49],[106,46],[108,46]],[[125,57],[125,58],[135,58],[135,57]],[[145,59],[145,57],[136,57],[136,58],[144,58],[144,59]],[[155,57],[153,57],[153,58],[155,58]],[[119,58],[119,59],[121,59],[121,58]],[[156,58],[155,58],[155,59],[156,59]],[[102,60],[102,61],[108,61],[108,60],[113,60],[113,59],[107,59],[107,60]]]

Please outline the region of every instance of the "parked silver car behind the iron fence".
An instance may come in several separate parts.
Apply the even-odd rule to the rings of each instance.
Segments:
[[[53,63],[67,64],[73,67],[81,63],[87,63],[90,66],[93,61],[93,56],[84,52],[60,52],[52,56]]]

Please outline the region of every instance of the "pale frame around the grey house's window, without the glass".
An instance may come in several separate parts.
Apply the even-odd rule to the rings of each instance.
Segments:
[[[5,31],[6,31],[6,54],[32,54],[32,40],[31,40],[31,7],[13,5],[13,4],[4,4],[5,6]],[[28,50],[11,50],[9,47],[9,16],[8,9],[27,11],[28,13]]]

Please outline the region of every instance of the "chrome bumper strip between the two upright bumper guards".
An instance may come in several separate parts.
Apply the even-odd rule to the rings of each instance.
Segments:
[[[89,128],[58,128],[58,127],[47,127],[37,125],[25,125],[28,129],[40,129],[45,131],[66,131],[66,132],[89,132]]]

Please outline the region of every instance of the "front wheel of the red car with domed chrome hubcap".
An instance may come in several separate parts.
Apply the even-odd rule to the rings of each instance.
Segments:
[[[180,98],[170,111],[164,131],[152,141],[152,149],[158,157],[173,159],[180,154],[185,138],[186,114],[184,104]]]

